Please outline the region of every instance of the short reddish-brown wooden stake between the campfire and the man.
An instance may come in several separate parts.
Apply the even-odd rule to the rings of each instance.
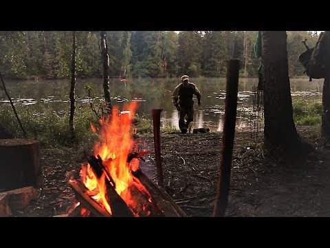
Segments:
[[[163,109],[151,110],[153,114],[153,141],[155,143],[155,157],[156,157],[156,167],[157,167],[157,181],[158,185],[164,188],[163,179],[163,168],[162,168],[162,158],[160,155],[160,112]]]

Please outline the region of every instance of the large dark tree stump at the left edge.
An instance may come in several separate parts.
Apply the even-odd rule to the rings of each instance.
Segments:
[[[38,141],[0,139],[0,189],[39,187],[43,181]]]

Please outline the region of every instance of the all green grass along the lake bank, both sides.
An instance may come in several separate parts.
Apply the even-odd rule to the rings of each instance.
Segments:
[[[322,103],[320,101],[307,101],[303,98],[292,101],[294,121],[296,125],[318,125],[321,123]],[[76,137],[71,138],[69,130],[69,111],[58,114],[46,109],[43,114],[27,110],[26,107],[16,106],[21,123],[28,134],[28,138],[38,140],[43,147],[70,148],[92,145],[98,138],[91,131],[91,123],[98,125],[98,117],[87,106],[77,107],[74,125]],[[8,106],[0,111],[0,123],[17,138],[23,138],[17,118],[12,107]],[[153,122],[144,116],[135,115],[132,134],[135,136],[153,135]],[[179,132],[173,127],[161,127],[163,133]]]

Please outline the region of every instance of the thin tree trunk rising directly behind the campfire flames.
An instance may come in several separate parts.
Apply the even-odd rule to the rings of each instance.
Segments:
[[[111,113],[112,105],[109,88],[109,54],[107,48],[107,32],[101,31],[100,50],[103,64],[103,91],[104,100],[107,103],[107,112]]]

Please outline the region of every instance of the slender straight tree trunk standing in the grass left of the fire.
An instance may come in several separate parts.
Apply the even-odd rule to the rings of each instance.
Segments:
[[[74,111],[76,110],[76,53],[77,53],[77,37],[76,31],[72,31],[72,67],[71,67],[71,88],[70,88],[70,131],[71,138],[75,138],[74,134]]]

